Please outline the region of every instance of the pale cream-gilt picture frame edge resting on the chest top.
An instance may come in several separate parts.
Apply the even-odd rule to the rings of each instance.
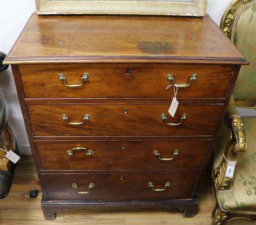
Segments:
[[[204,16],[207,0],[35,0],[38,14]]]

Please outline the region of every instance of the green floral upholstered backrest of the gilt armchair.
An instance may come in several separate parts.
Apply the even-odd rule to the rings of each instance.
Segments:
[[[233,95],[235,101],[256,104],[256,3],[241,9],[240,17],[237,17],[232,28],[235,32],[232,41],[250,65],[241,66]]]

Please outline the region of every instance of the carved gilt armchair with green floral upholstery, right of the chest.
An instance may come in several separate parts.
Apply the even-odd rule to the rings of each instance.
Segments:
[[[252,108],[256,115],[256,0],[233,0],[222,17],[221,29],[250,65],[241,67],[216,139],[213,225],[233,219],[256,222],[256,117],[241,119],[236,110],[236,106]],[[226,174],[229,164],[235,165],[232,178]]]

